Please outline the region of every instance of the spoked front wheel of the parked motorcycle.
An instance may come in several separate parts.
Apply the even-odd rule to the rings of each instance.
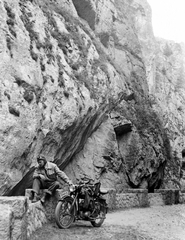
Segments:
[[[75,206],[72,207],[73,198],[65,196],[59,200],[55,208],[55,220],[59,228],[69,228],[75,219]]]

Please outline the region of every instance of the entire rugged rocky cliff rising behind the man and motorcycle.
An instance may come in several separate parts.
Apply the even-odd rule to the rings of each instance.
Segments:
[[[0,0],[0,194],[39,153],[73,181],[179,187],[184,46],[156,40],[145,0]]]

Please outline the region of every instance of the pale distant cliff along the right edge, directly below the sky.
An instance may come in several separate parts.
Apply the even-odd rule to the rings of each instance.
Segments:
[[[164,39],[156,39],[156,55],[153,61],[149,88],[152,107],[160,117],[172,147],[171,161],[165,173],[165,182],[170,185],[182,167],[184,149],[184,90],[185,90],[185,45]],[[179,180],[179,176],[178,176]],[[182,180],[182,179],[181,179]],[[181,188],[185,185],[181,182]],[[168,183],[167,183],[168,182]]]

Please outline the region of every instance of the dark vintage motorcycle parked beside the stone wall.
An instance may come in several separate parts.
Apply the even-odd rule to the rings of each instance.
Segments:
[[[100,189],[101,183],[81,181],[69,188],[69,194],[59,199],[55,208],[55,220],[59,228],[69,228],[76,220],[90,221],[100,227],[108,211],[107,190]]]

